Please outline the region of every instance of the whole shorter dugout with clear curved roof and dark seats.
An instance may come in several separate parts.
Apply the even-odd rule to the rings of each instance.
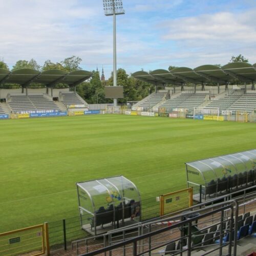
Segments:
[[[77,182],[76,186],[81,227],[94,236],[140,221],[139,190],[124,176]]]

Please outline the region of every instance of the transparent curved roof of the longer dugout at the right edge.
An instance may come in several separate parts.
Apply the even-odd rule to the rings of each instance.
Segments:
[[[186,163],[187,181],[199,185],[253,169],[256,170],[256,150]]]

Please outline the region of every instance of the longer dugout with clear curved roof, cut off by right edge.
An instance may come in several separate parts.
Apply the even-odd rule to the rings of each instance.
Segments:
[[[185,164],[187,187],[193,187],[193,199],[199,202],[256,183],[256,150]]]

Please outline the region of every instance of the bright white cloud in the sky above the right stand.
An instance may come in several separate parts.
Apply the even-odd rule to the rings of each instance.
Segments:
[[[197,17],[169,20],[164,39],[172,40],[239,40],[256,41],[256,25],[253,22],[256,10],[246,14],[220,12]]]

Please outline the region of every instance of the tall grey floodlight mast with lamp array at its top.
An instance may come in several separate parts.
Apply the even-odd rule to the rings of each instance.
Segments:
[[[113,86],[117,86],[116,75],[116,15],[124,14],[122,0],[103,0],[103,9],[106,16],[113,15]],[[114,98],[117,106],[117,98]]]

